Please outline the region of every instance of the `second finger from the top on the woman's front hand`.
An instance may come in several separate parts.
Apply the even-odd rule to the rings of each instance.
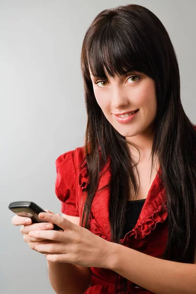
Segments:
[[[53,241],[65,241],[65,234],[61,231],[31,231],[28,233],[30,237],[37,239],[53,240]]]

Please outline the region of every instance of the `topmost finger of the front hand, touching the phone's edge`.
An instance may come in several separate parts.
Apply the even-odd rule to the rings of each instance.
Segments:
[[[39,214],[39,218],[41,220],[45,220],[45,221],[49,221],[49,222],[55,223],[60,228],[62,228],[64,230],[65,229],[73,229],[73,226],[76,226],[76,224],[74,224],[71,221],[68,221],[64,217],[58,216],[58,215],[53,215],[53,214],[50,214],[50,213],[43,213],[43,212],[41,212]]]

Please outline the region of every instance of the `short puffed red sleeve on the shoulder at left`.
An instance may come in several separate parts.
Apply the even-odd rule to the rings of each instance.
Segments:
[[[61,201],[61,212],[79,217],[76,208],[76,172],[73,158],[74,150],[71,150],[56,159],[55,193]]]

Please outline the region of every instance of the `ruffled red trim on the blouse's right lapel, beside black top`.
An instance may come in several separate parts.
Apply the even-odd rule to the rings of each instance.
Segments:
[[[167,200],[165,199],[150,215],[137,223],[132,229],[131,233],[127,233],[128,238],[130,239],[131,236],[135,235],[135,239],[137,240],[144,239],[147,235],[150,234],[151,231],[156,228],[157,223],[163,223],[168,216],[166,201]],[[124,236],[124,239],[126,238],[126,235]],[[123,242],[124,239],[121,239],[121,242]]]

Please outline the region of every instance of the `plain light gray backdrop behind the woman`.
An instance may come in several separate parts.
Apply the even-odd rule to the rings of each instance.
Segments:
[[[183,107],[196,123],[195,0],[0,0],[1,294],[54,293],[44,255],[23,241],[7,207],[31,200],[60,212],[55,159],[84,144],[83,37],[100,11],[129,3],[146,6],[169,32]]]

